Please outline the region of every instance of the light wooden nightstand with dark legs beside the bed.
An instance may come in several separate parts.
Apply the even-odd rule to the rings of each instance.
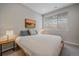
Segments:
[[[8,39],[7,38],[0,39],[0,55],[1,56],[2,56],[2,46],[3,46],[3,44],[8,44],[8,43],[12,42],[13,50],[15,50],[15,40],[16,40],[16,38],[17,38],[16,35],[12,35]]]

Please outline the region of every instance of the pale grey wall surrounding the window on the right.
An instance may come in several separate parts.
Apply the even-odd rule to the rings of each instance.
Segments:
[[[66,7],[49,14],[44,15],[48,17],[62,12],[68,12],[68,31],[48,31],[50,34],[61,35],[65,41],[79,43],[79,4]]]

